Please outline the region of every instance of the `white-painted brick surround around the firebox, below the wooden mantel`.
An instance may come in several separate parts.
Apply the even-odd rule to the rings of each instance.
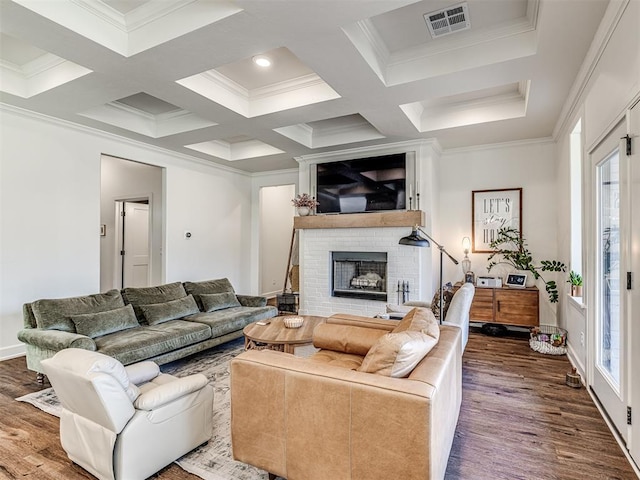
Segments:
[[[374,316],[397,303],[398,282],[408,282],[410,299],[431,289],[431,249],[398,245],[410,227],[321,228],[300,233],[300,313]],[[386,252],[387,298],[384,301],[331,296],[331,252]],[[429,265],[427,265],[429,264]]]

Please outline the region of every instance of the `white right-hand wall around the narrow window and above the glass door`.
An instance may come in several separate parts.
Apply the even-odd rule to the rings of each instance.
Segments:
[[[582,118],[583,127],[583,179],[588,178],[589,152],[624,118],[625,111],[640,97],[640,2],[636,0],[611,2],[596,40],[582,67],[582,75],[574,88],[580,87],[581,94],[573,107],[573,114],[563,123],[558,132],[556,175],[558,191],[558,251],[563,261],[571,258],[571,222],[569,198],[569,137],[573,126]],[[583,192],[589,185],[583,180]],[[583,195],[584,198],[584,195]],[[583,257],[594,255],[593,242],[588,242],[588,205],[583,204]],[[584,265],[583,261],[583,265]],[[589,272],[583,271],[584,299],[588,301],[593,281]],[[566,328],[569,355],[572,363],[585,377],[587,363],[589,322],[593,313],[582,309],[565,295],[561,295],[559,325]],[[580,343],[584,333],[585,345]]]

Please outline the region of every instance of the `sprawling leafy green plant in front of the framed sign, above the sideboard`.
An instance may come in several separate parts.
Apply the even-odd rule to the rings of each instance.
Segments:
[[[499,229],[490,247],[492,253],[488,258],[487,271],[490,272],[498,264],[511,265],[516,270],[533,275],[534,280],[542,279],[549,301],[551,303],[558,301],[558,285],[554,280],[546,280],[540,272],[564,272],[567,269],[564,263],[557,260],[542,260],[539,265],[536,265],[525,239],[517,229],[512,227]]]

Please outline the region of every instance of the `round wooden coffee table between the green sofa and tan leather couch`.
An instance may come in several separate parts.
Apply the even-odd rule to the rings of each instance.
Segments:
[[[294,353],[296,347],[310,345],[313,340],[313,330],[324,323],[326,318],[313,315],[297,316],[304,318],[300,328],[285,327],[282,320],[285,316],[265,320],[269,322],[268,325],[258,325],[258,322],[250,323],[242,331],[245,350],[269,349]]]

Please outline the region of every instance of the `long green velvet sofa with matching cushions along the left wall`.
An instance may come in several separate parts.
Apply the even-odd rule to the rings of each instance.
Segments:
[[[27,367],[64,348],[84,348],[125,365],[171,362],[242,336],[251,322],[276,316],[265,297],[236,295],[226,278],[124,288],[23,306]]]

